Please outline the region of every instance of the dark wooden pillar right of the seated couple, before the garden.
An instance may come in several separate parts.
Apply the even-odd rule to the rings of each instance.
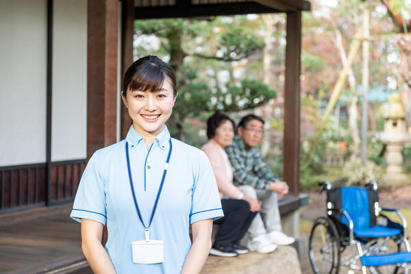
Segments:
[[[299,194],[301,12],[287,12],[284,92],[284,181]]]

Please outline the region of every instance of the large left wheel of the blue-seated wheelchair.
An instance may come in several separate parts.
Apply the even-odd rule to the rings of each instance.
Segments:
[[[308,242],[308,255],[316,274],[337,274],[340,268],[340,237],[327,217],[316,219]]]

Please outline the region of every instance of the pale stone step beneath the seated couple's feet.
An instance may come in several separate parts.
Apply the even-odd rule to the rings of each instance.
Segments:
[[[301,274],[294,247],[278,247],[269,254],[249,252],[234,258],[209,256],[201,274]]]

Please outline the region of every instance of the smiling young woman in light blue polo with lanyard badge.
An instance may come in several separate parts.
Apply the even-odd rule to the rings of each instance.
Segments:
[[[124,75],[133,125],[125,140],[92,155],[71,212],[94,273],[200,273],[206,262],[212,220],[223,210],[205,153],[171,138],[165,125],[175,83],[173,69],[151,55]]]

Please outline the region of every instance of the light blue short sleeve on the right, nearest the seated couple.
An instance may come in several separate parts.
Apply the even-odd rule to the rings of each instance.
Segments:
[[[206,154],[200,151],[197,166],[194,167],[195,182],[192,189],[190,224],[219,219],[223,214],[219,190]]]

